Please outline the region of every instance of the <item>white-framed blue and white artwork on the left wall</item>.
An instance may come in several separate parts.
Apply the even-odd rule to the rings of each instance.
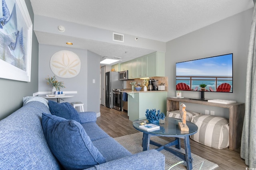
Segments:
[[[0,78],[30,82],[32,21],[24,0],[2,0]]]

